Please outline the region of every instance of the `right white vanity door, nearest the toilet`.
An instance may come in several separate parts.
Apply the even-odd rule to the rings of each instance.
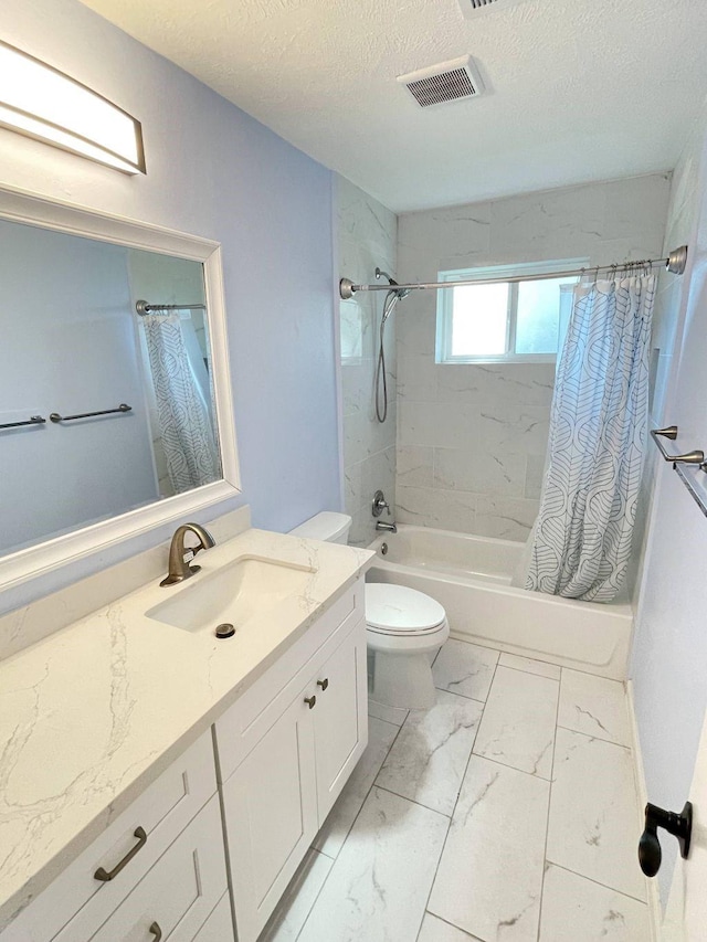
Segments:
[[[368,742],[365,622],[329,657],[312,690],[321,825]]]

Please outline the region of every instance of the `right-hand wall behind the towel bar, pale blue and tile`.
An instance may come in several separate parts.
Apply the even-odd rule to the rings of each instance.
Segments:
[[[665,253],[689,245],[683,277],[661,276],[653,348],[659,351],[654,390],[653,427],[677,424],[676,451],[701,446],[706,422],[704,363],[707,317],[707,191],[705,190],[705,117],[688,141],[673,178]],[[686,328],[686,330],[685,330]],[[690,405],[699,422],[695,425]],[[690,444],[687,445],[686,443]],[[692,443],[695,443],[693,445]],[[689,795],[699,737],[707,707],[707,605],[705,554],[707,529],[692,497],[648,445],[645,559],[630,676],[647,797],[679,811]],[[699,481],[697,481],[699,484]],[[677,843],[661,838],[663,864],[657,877],[665,904],[677,858]]]

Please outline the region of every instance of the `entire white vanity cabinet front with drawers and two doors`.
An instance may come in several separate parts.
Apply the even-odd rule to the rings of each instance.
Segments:
[[[367,739],[359,578],[0,942],[255,942]]]

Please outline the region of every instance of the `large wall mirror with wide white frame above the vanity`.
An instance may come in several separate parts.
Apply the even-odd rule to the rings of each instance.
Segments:
[[[0,586],[239,489],[217,243],[0,190]]]

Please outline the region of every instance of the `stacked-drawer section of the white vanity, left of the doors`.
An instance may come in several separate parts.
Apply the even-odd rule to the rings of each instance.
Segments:
[[[0,942],[157,942],[160,934],[193,942],[224,895],[228,900],[207,732],[0,933]],[[232,927],[220,942],[233,942]]]

